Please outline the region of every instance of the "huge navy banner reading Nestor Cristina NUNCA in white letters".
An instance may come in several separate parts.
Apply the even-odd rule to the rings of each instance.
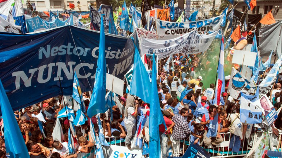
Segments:
[[[97,31],[74,26],[32,34],[0,32],[0,40],[5,41],[0,46],[0,79],[13,110],[60,95],[59,79],[63,94],[72,95],[74,71],[81,91],[91,91],[99,36]],[[109,34],[105,41],[107,71],[123,79],[133,64],[133,41]]]

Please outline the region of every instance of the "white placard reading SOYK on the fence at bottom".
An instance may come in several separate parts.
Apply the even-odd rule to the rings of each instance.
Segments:
[[[118,158],[118,157],[142,158],[142,149],[129,150],[127,147],[111,145],[109,158]]]

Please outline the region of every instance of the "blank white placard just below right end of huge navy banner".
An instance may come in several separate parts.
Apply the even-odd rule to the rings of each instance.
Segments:
[[[107,73],[106,89],[114,91],[116,94],[123,96],[123,80]]]

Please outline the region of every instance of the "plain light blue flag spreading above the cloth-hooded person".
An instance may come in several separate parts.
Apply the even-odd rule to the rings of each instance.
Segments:
[[[132,38],[132,37],[131,37]],[[134,43],[134,39],[132,38]],[[147,70],[140,58],[138,48],[135,47],[135,54],[134,54],[134,64],[133,64],[133,74],[130,84],[130,94],[136,95],[137,97],[141,98],[144,102],[150,103],[150,96],[151,96],[151,82],[147,73]]]

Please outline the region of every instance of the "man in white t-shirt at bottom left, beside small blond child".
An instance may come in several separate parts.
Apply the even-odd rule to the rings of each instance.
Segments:
[[[53,149],[52,153],[59,153],[61,157],[63,158],[71,158],[71,157],[77,157],[77,154],[68,155],[69,154],[69,148],[67,147],[67,142],[59,142],[55,141],[53,143],[53,146],[55,149]]]

